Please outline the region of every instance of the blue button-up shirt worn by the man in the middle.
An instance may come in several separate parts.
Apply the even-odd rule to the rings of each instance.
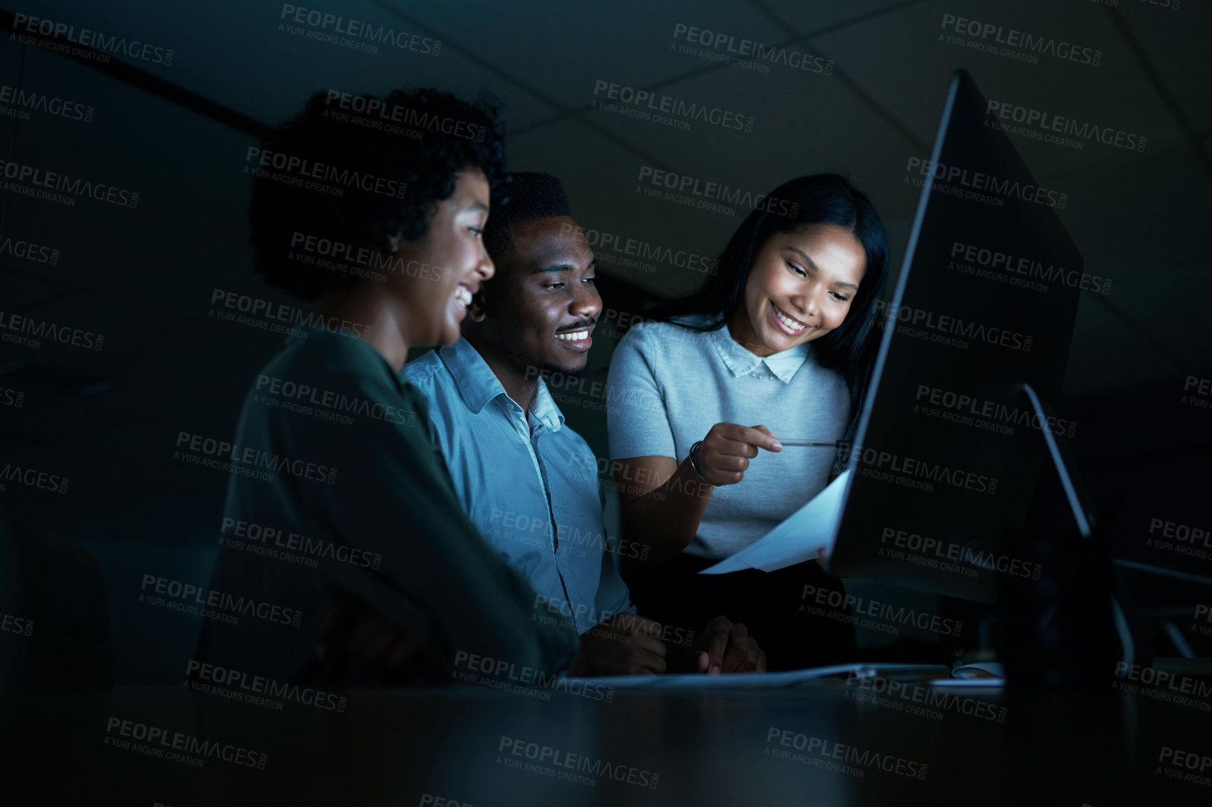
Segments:
[[[596,474],[587,473],[596,457],[564,424],[543,380],[524,412],[463,338],[402,374],[429,399],[431,436],[463,509],[545,597],[541,605],[582,634],[634,611],[611,553],[617,542],[602,525]]]

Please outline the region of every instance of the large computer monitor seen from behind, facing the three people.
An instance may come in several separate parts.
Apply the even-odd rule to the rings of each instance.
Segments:
[[[983,602],[1000,576],[1037,576],[1005,545],[1027,516],[1045,430],[1024,385],[1056,401],[1077,296],[1097,282],[1057,210],[966,71],[957,71],[921,187],[859,414],[852,470],[827,568]],[[1054,452],[1053,452],[1054,453]],[[840,452],[841,454],[841,452]]]

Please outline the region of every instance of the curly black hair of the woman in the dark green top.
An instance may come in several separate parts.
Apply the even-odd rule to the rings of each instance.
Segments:
[[[360,275],[305,263],[308,237],[336,254],[389,253],[422,237],[456,174],[478,167],[496,191],[505,174],[499,102],[448,92],[394,90],[384,98],[318,92],[301,113],[250,148],[248,244],[270,286],[315,301]],[[367,254],[364,253],[364,254]],[[322,254],[322,253],[321,253]]]

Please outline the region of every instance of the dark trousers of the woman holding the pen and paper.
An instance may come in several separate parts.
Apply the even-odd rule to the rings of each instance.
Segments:
[[[854,660],[854,618],[841,580],[814,561],[777,572],[699,574],[716,561],[685,553],[662,563],[624,565],[641,617],[702,634],[720,614],[739,622],[766,652],[767,669]]]

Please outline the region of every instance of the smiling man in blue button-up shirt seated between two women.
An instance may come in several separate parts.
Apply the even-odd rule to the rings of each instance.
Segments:
[[[559,179],[515,173],[504,193],[485,230],[497,276],[481,285],[463,338],[404,368],[430,401],[433,439],[464,510],[530,579],[553,624],[576,624],[574,674],[664,672],[667,642],[702,651],[686,654],[685,671],[764,669],[743,625],[718,617],[696,637],[635,614],[614,554],[638,546],[605,534],[601,488],[587,473],[596,457],[542,378],[588,370],[601,311],[593,252]]]

